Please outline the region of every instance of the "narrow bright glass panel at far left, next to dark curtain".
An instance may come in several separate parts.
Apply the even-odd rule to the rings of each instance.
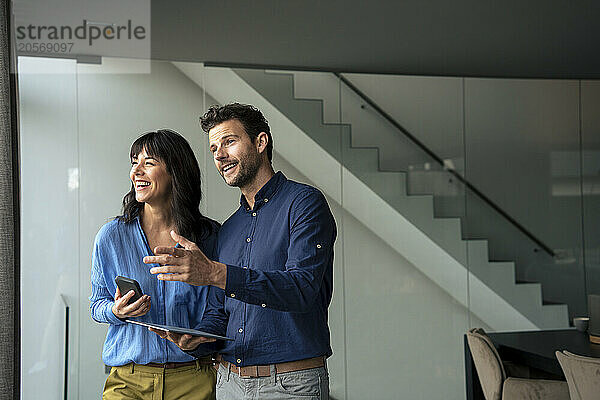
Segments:
[[[21,398],[59,399],[67,362],[70,396],[78,379],[78,333],[67,333],[81,318],[76,63],[19,57],[18,68]]]

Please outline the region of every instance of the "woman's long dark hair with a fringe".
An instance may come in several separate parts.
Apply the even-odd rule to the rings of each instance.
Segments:
[[[148,132],[131,145],[129,157],[137,157],[143,150],[162,161],[171,177],[171,215],[175,230],[180,235],[199,244],[214,229],[213,222],[200,213],[202,200],[200,167],[190,144],[175,131],[160,129]],[[130,223],[141,215],[144,203],[135,199],[135,185],[123,197],[121,221]]]

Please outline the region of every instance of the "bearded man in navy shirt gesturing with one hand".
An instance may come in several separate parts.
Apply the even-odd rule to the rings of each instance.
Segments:
[[[219,232],[218,261],[172,233],[184,248],[157,248],[145,262],[163,265],[150,270],[158,279],[224,290],[203,318],[205,330],[234,339],[221,350],[218,399],[328,399],[336,226],[325,197],[274,172],[270,128],[255,107],[213,106],[201,123],[241,206]],[[159,334],[186,351],[207,341]]]

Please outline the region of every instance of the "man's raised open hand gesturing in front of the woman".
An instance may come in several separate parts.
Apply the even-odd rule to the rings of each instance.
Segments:
[[[181,281],[195,286],[213,285],[225,289],[225,264],[209,260],[195,243],[175,231],[171,231],[171,237],[183,248],[156,247],[155,256],[144,257],[146,264],[161,265],[150,268],[151,274],[158,274],[157,278],[163,281]]]

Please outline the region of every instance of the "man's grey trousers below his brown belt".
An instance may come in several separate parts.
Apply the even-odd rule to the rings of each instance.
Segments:
[[[329,374],[324,367],[271,376],[240,378],[219,365],[217,400],[329,400]]]

